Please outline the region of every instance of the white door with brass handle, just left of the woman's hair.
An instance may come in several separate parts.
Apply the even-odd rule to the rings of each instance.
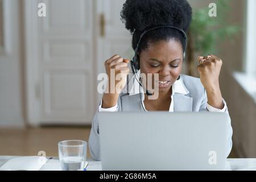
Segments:
[[[131,59],[131,35],[121,22],[120,12],[125,0],[98,0],[97,3],[97,69],[105,73],[104,61],[115,54]],[[101,95],[98,94],[98,101]]]

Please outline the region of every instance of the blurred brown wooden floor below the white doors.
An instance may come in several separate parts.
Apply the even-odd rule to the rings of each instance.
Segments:
[[[81,139],[88,142],[90,127],[40,127],[30,129],[0,129],[0,155],[58,156],[57,143],[66,139]],[[89,150],[87,157],[90,158]],[[238,158],[232,150],[229,158]]]

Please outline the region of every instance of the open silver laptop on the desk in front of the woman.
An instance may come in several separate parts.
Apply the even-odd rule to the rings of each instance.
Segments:
[[[99,113],[102,170],[225,170],[226,113]]]

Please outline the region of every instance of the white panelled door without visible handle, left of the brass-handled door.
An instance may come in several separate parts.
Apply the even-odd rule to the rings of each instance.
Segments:
[[[46,17],[38,4],[46,4]],[[27,105],[32,125],[90,124],[93,0],[26,0]]]

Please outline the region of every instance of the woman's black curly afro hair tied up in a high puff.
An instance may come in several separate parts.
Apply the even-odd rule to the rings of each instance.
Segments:
[[[144,30],[168,24],[187,32],[191,19],[192,9],[187,0],[126,0],[121,11],[121,20],[133,35],[134,50]],[[143,36],[138,53],[146,49],[149,43],[170,39],[180,42],[185,51],[184,37],[179,31],[159,28]]]

